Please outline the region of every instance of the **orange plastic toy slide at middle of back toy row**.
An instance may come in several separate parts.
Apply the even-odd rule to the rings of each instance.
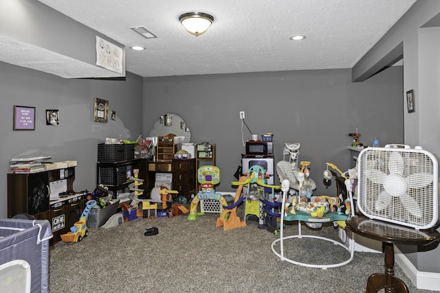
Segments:
[[[223,207],[223,211],[221,212],[219,218],[217,219],[216,228],[219,226],[223,226],[224,231],[228,231],[230,229],[245,227],[246,222],[240,220],[240,218],[236,215],[236,207],[243,201],[243,197],[241,197],[241,191],[243,190],[243,185],[245,185],[248,178],[246,176],[241,176],[239,181],[239,187],[236,189],[234,204],[231,207]]]

